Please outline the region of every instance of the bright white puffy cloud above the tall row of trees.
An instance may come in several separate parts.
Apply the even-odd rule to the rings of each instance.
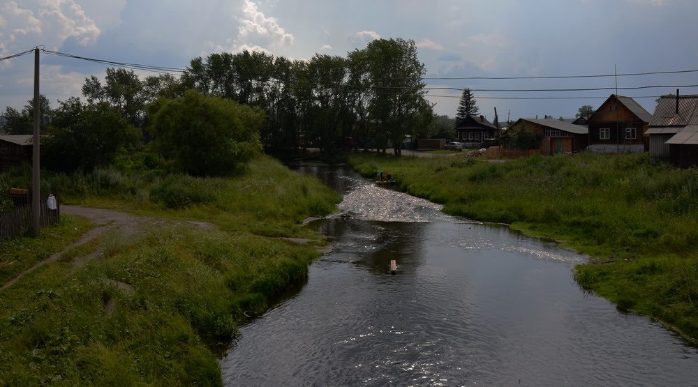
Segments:
[[[257,4],[253,1],[245,0],[242,5],[242,17],[238,17],[240,26],[237,36],[240,45],[246,44],[247,40],[263,40],[276,46],[286,46],[293,44],[293,35],[287,33],[274,17],[267,17],[257,9]]]

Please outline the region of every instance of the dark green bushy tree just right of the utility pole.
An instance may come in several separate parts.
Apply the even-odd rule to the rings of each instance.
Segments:
[[[42,164],[48,169],[89,172],[141,146],[142,133],[116,107],[104,102],[83,105],[77,97],[59,105],[41,144]]]

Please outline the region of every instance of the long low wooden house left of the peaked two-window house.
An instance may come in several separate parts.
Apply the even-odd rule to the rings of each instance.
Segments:
[[[586,126],[574,125],[558,119],[519,119],[510,126],[507,134],[517,130],[528,130],[535,133],[537,153],[556,155],[565,152],[584,151],[587,145],[588,129]],[[505,149],[511,149],[513,144],[510,136],[505,136]]]

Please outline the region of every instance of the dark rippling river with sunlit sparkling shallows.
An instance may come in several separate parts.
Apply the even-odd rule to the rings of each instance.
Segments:
[[[579,289],[586,260],[440,212],[348,167],[334,251],[221,360],[228,386],[697,386],[698,350]],[[398,264],[391,275],[389,262]]]

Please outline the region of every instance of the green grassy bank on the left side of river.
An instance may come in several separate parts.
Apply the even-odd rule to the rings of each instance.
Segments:
[[[110,169],[49,176],[45,184],[64,202],[216,227],[168,221],[136,238],[105,234],[2,291],[0,384],[221,384],[216,351],[246,316],[302,283],[318,256],[274,236],[318,238],[299,221],[326,215],[339,200],[318,179],[271,158],[232,179]],[[42,257],[81,230],[82,220],[64,218],[55,232],[43,232],[52,248]],[[103,255],[75,265],[96,249]]]

